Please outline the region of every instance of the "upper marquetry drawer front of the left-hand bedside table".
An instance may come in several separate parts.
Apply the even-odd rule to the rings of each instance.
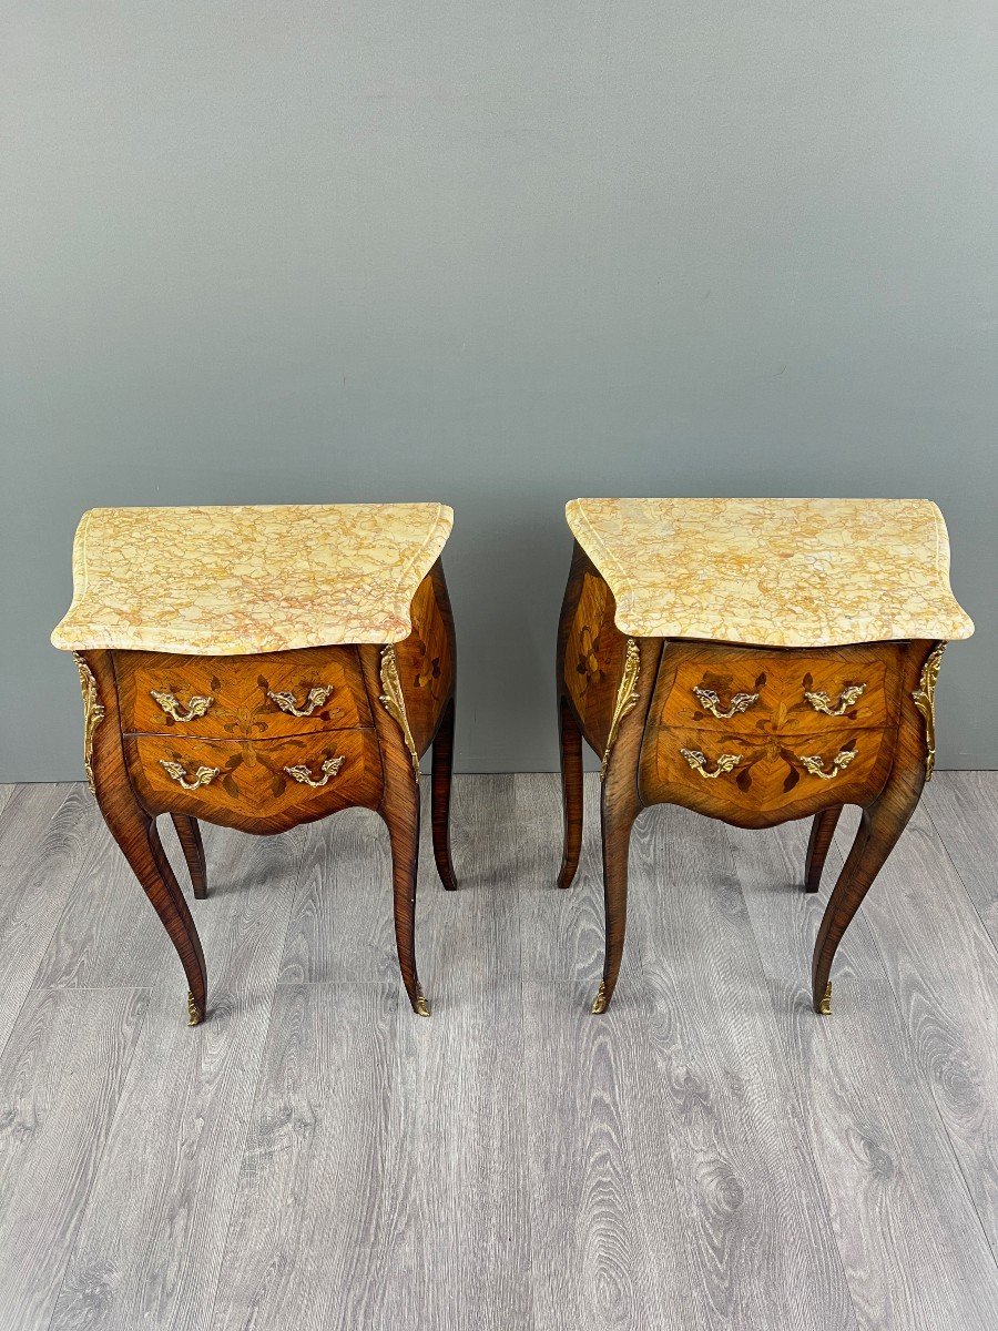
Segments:
[[[353,647],[263,656],[116,652],[114,668],[124,731],[279,739],[373,724]]]

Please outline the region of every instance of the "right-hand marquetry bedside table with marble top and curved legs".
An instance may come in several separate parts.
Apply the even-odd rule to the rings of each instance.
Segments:
[[[607,946],[617,981],[631,828],[651,804],[736,827],[812,817],[817,892],[845,804],[860,831],[812,966],[836,949],[931,776],[943,647],[974,626],[949,539],[919,499],[576,499],[558,639],[567,888],[582,845],[582,740],[601,759]]]

